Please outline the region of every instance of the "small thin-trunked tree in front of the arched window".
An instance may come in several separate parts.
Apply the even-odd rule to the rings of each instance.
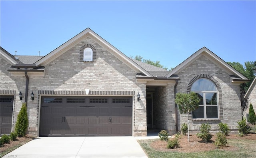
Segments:
[[[199,107],[200,99],[194,92],[177,93],[175,103],[179,106],[180,113],[188,114]],[[188,118],[188,141],[189,141],[189,118]]]

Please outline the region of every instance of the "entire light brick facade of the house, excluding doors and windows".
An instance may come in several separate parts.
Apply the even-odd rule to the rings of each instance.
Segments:
[[[122,59],[125,57],[122,57],[122,54],[114,52],[116,48],[106,47],[108,43],[95,38],[96,35],[85,35],[74,41],[76,44],[72,45],[73,43],[71,43],[72,47],[67,45],[59,51],[63,51],[63,53],[54,54],[56,57],[54,55],[50,56],[52,57],[51,61],[45,61],[45,64],[40,65],[44,66],[44,75],[29,76],[27,112],[29,119],[28,132],[30,134],[36,136],[39,134],[42,96],[129,96],[133,99],[132,135],[146,136],[148,130],[147,93],[153,94],[153,127],[165,129],[170,134],[175,134],[176,124],[178,130],[180,130],[180,126],[187,122],[188,117],[186,114],[181,115],[178,111],[178,121],[176,122],[175,90],[177,93],[190,92],[191,85],[200,78],[210,79],[217,87],[219,118],[196,120],[192,119],[190,114],[191,132],[198,132],[202,123],[211,124],[214,132],[218,129],[217,124],[220,122],[227,123],[232,132],[237,131],[237,122],[242,118],[240,91],[239,84],[232,83],[230,77],[230,75],[236,75],[237,73],[228,69],[227,65],[212,60],[212,56],[206,53],[207,48],[202,48],[204,51],[200,55],[178,69],[176,74],[173,74],[178,78],[168,78],[166,75],[169,71],[161,70],[159,73],[158,70],[152,69],[152,65],[150,65],[151,68],[148,65],[144,65],[145,67],[142,68],[138,63],[132,63],[132,60],[124,61]],[[86,47],[92,48],[93,61],[83,61],[82,50]],[[141,69],[136,67],[136,64]],[[25,95],[26,77],[24,75],[11,75],[7,71],[11,66],[1,57],[1,95],[14,95],[12,116],[12,130],[14,130],[17,115],[24,102],[24,99],[20,101],[18,94],[21,91],[23,97]],[[144,71],[145,69],[152,70]],[[150,76],[151,73],[162,75],[166,73],[166,75],[159,78],[159,76]],[[178,85],[175,89],[176,83]],[[150,91],[147,90],[148,87],[151,88]],[[86,94],[86,89],[90,89],[88,94]],[[34,101],[30,98],[32,91],[35,96]],[[250,101],[254,103],[255,92],[254,87],[250,95]],[[138,93],[140,94],[140,101],[137,101]],[[256,105],[254,105],[255,107]]]

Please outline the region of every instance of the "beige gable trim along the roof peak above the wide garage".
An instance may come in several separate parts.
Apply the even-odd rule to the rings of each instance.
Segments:
[[[52,52],[48,53],[46,56],[42,57],[38,61],[35,62],[36,66],[40,65],[46,65],[47,63],[50,63],[63,53],[65,53],[68,49],[74,47],[76,44],[78,44],[80,41],[82,41],[84,38],[90,37],[93,40],[95,40],[99,45],[104,47],[107,51],[112,53],[116,58],[118,58],[120,61],[128,65],[131,69],[133,69],[136,72],[142,72],[147,76],[152,77],[152,75],[143,69],[140,65],[135,63],[132,59],[124,55],[121,51],[116,49],[113,45],[108,43],[106,40],[101,38],[98,34],[93,32],[90,28],[86,28],[84,31],[80,32],[78,35],[74,36],[70,40],[66,41],[64,44],[60,45],[58,48],[54,49]]]

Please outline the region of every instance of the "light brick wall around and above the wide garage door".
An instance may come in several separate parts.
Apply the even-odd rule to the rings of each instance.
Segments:
[[[84,44],[91,44],[96,48],[95,61],[80,61],[79,51]],[[10,74],[6,70],[10,65],[6,65],[5,61],[2,61],[4,60],[1,60],[1,82],[8,81],[8,83],[1,83],[1,89],[10,89],[8,86],[13,85],[12,89],[17,91],[16,97],[20,89],[25,93],[26,78],[8,77]],[[2,66],[2,64],[5,65]],[[29,77],[28,89],[28,93],[33,91],[35,96],[32,101],[29,95],[27,104],[28,130],[32,134],[37,134],[39,130],[40,97],[38,91],[85,91],[85,89],[90,89],[90,91],[133,91],[135,95],[139,92],[141,100],[138,102],[135,99],[133,103],[134,136],[146,136],[146,98],[144,97],[144,95],[146,96],[146,83],[136,83],[136,72],[91,38],[84,39],[45,65],[44,77]],[[135,95],[133,97],[137,98]],[[18,98],[16,101],[17,105],[21,103]],[[136,109],[136,106],[142,106],[144,109]]]

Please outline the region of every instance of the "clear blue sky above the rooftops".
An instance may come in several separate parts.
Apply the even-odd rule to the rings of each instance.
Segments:
[[[256,60],[256,1],[0,1],[1,47],[46,55],[86,28],[128,57],[176,67],[207,47]]]

